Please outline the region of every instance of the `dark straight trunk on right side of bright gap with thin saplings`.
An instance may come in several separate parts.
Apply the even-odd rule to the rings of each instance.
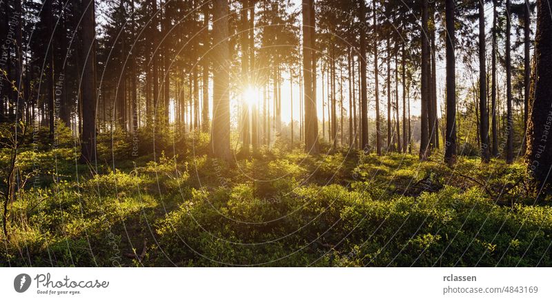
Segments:
[[[479,107],[481,160],[489,162],[489,115],[486,102],[486,63],[485,63],[485,8],[483,1],[479,2]]]

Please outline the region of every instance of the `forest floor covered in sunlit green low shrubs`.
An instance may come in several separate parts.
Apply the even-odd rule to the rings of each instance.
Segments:
[[[196,138],[153,160],[99,137],[93,168],[72,143],[21,149],[42,172],[10,207],[0,266],[552,266],[551,196],[521,162],[277,143],[227,163]]]

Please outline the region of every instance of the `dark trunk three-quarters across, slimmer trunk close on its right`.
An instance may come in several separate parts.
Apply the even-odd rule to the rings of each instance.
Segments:
[[[428,0],[422,0],[422,110],[421,110],[421,139],[420,139],[420,159],[426,160],[429,155],[429,106],[430,106],[430,89],[429,89],[429,41],[428,41]]]

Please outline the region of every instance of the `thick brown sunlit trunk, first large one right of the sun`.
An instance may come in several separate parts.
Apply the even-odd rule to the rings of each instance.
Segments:
[[[314,1],[303,0],[303,81],[305,102],[305,151],[309,154],[319,154],[318,120],[316,114],[316,98],[314,92],[315,64],[313,52],[315,41],[313,37]]]

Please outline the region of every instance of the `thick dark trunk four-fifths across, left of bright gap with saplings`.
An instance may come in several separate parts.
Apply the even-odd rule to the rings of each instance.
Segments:
[[[455,62],[455,16],[454,0],[445,1],[446,23],[446,132],[444,160],[456,162],[456,62]]]

